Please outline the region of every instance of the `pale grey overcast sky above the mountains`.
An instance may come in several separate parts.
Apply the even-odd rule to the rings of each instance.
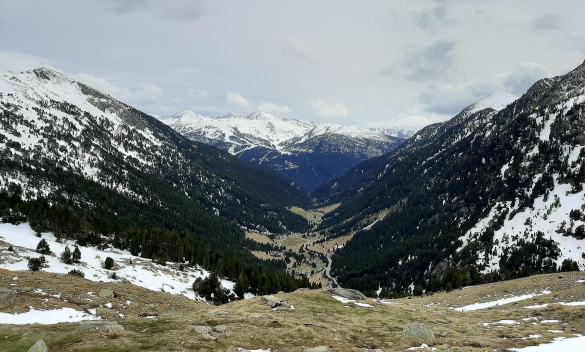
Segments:
[[[147,113],[422,127],[585,60],[583,0],[0,0],[0,70]]]

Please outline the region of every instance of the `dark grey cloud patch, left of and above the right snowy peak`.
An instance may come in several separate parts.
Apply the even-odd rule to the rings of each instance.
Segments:
[[[402,57],[382,72],[384,75],[429,81],[448,77],[452,74],[455,59],[455,40],[437,40],[424,47],[407,50]]]

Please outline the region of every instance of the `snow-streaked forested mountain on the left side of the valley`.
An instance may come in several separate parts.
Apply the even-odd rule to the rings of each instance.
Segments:
[[[185,255],[193,241],[201,250],[245,251],[252,245],[245,228],[288,232],[308,226],[287,210],[306,206],[307,196],[276,172],[192,142],[66,75],[46,68],[2,71],[0,98],[5,221],[30,220],[68,237],[148,229],[129,234],[142,236],[143,245],[153,243],[148,251],[135,243],[143,256],[156,250]],[[156,229],[192,237],[171,244]],[[156,248],[159,239],[168,247]]]

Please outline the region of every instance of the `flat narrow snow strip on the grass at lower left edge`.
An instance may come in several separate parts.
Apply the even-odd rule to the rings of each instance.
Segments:
[[[0,313],[0,322],[2,324],[57,324],[57,323],[71,323],[81,322],[81,320],[96,320],[101,319],[96,316],[88,315],[80,310],[73,308],[61,308],[53,310],[36,310],[30,307],[26,313],[8,314]]]

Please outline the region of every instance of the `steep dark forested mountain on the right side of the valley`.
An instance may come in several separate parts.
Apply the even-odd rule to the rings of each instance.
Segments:
[[[462,285],[583,268],[584,91],[580,65],[515,101],[488,96],[317,188],[342,202],[319,229],[356,232],[332,258],[339,284],[404,292],[449,271]]]

